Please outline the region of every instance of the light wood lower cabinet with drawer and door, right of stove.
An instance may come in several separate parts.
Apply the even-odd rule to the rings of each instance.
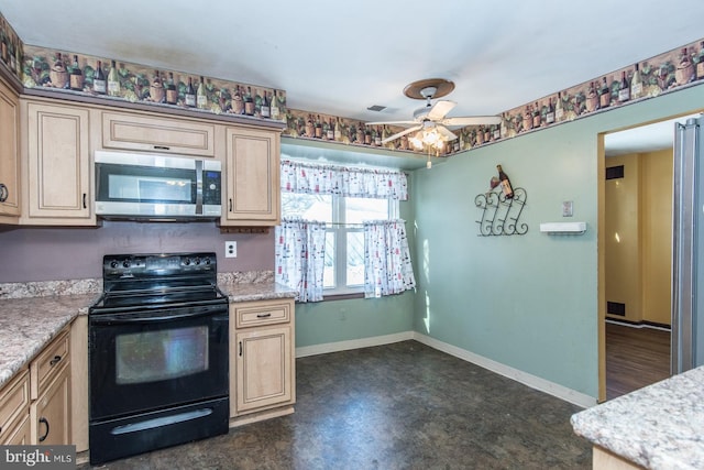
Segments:
[[[294,300],[230,306],[230,424],[293,413]]]

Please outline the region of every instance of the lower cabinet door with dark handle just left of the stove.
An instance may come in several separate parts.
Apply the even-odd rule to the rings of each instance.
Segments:
[[[70,367],[65,364],[56,379],[30,405],[31,444],[70,444]]]

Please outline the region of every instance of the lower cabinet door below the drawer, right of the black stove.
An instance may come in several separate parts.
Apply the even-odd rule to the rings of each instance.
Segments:
[[[290,326],[252,328],[235,338],[237,413],[292,402]]]

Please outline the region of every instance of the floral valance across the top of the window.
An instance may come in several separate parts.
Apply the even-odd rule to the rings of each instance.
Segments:
[[[282,190],[343,197],[408,199],[406,174],[392,170],[352,168],[282,161]]]

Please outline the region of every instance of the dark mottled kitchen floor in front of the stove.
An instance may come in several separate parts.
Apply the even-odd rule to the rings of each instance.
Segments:
[[[295,414],[103,467],[591,468],[591,446],[569,423],[578,406],[419,342],[296,364]]]

